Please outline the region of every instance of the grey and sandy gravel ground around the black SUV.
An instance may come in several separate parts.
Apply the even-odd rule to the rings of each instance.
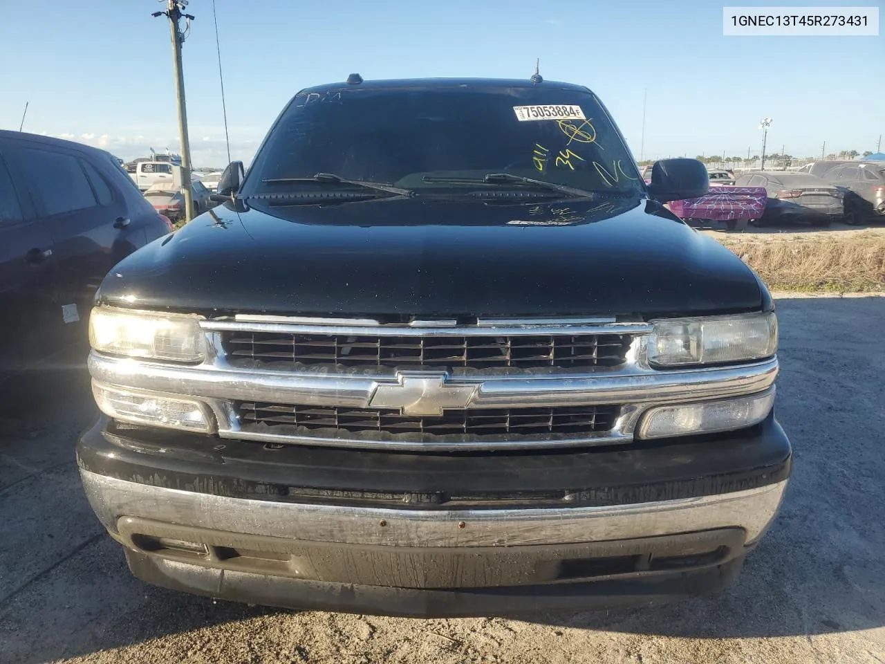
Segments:
[[[655,609],[419,621],[296,613],[132,578],[73,462],[81,363],[0,386],[2,662],[885,662],[885,300],[778,300],[795,445],[773,529],[729,591]],[[47,397],[47,395],[49,395]]]

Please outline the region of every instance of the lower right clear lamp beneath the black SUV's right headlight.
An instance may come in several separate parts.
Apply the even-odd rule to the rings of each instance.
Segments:
[[[768,417],[774,388],[749,397],[696,404],[661,405],[643,415],[637,437],[664,438],[743,429]]]

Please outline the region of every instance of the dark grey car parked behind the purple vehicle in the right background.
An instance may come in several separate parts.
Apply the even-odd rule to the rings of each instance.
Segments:
[[[807,221],[829,226],[843,216],[843,192],[808,173],[760,171],[737,178],[738,187],[764,187],[768,195],[758,226],[774,221]]]

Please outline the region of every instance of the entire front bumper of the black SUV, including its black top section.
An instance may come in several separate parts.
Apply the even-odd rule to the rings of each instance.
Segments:
[[[630,449],[465,455],[273,449],[103,419],[77,452],[91,505],[146,581],[419,616],[720,590],[790,464],[773,416]]]

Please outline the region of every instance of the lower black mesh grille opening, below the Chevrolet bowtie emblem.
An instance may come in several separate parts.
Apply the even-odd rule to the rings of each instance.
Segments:
[[[235,405],[244,430],[296,427],[305,432],[337,429],[431,436],[584,435],[609,431],[620,414],[613,405],[554,408],[470,408],[442,415],[404,415],[393,408],[363,409],[335,406],[239,402]]]

